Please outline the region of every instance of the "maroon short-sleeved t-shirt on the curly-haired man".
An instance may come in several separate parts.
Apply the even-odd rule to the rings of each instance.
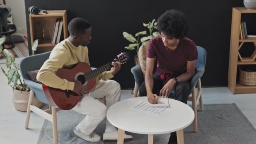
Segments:
[[[161,35],[153,37],[147,45],[147,57],[155,58],[154,74],[162,75],[175,73],[181,75],[186,72],[187,61],[198,59],[195,43],[187,37],[179,41],[175,50],[166,47]]]

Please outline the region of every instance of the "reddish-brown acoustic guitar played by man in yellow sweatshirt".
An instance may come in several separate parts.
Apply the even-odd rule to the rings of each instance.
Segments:
[[[120,53],[117,55],[116,59],[121,64],[124,64],[130,58],[127,53]],[[80,83],[85,86],[84,93],[90,93],[96,87],[96,77],[102,72],[111,69],[113,67],[111,63],[112,61],[97,69],[92,70],[87,63],[81,62],[76,64],[71,69],[58,69],[55,74],[58,77],[66,79],[70,82],[75,82],[75,80],[80,81]],[[49,87],[45,84],[42,85],[45,96],[53,108],[59,107],[60,109],[64,110],[72,109],[82,97],[70,90],[61,90],[58,88]]]

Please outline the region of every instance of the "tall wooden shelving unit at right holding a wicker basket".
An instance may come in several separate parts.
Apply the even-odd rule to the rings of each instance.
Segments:
[[[239,53],[239,50],[244,43],[253,43],[256,48],[256,38],[240,39],[240,22],[242,13],[256,13],[256,10],[248,10],[246,8],[232,9],[228,88],[233,94],[256,93],[256,86],[241,85],[237,82],[238,65],[256,64],[256,49],[251,54],[251,57],[248,58],[242,57]]]

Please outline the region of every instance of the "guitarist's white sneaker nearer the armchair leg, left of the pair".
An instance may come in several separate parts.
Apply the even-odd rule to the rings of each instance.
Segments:
[[[86,135],[84,133],[82,133],[82,131],[80,131],[80,129],[78,128],[74,128],[74,134],[78,137],[80,137],[81,139],[84,139],[85,141],[90,141],[90,142],[99,142],[101,141],[101,137],[99,135],[97,135],[96,133],[92,132],[89,135]]]

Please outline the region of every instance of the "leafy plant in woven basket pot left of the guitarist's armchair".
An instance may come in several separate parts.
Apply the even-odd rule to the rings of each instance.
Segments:
[[[21,80],[19,64],[15,63],[13,54],[7,49],[3,50],[1,45],[4,42],[5,37],[0,38],[0,53],[3,52],[5,54],[8,71],[5,71],[1,65],[0,67],[4,75],[8,78],[8,85],[13,89],[12,101],[15,109],[26,112],[30,89],[24,81]],[[43,106],[43,103],[36,99],[33,99],[32,104],[39,108]]]

